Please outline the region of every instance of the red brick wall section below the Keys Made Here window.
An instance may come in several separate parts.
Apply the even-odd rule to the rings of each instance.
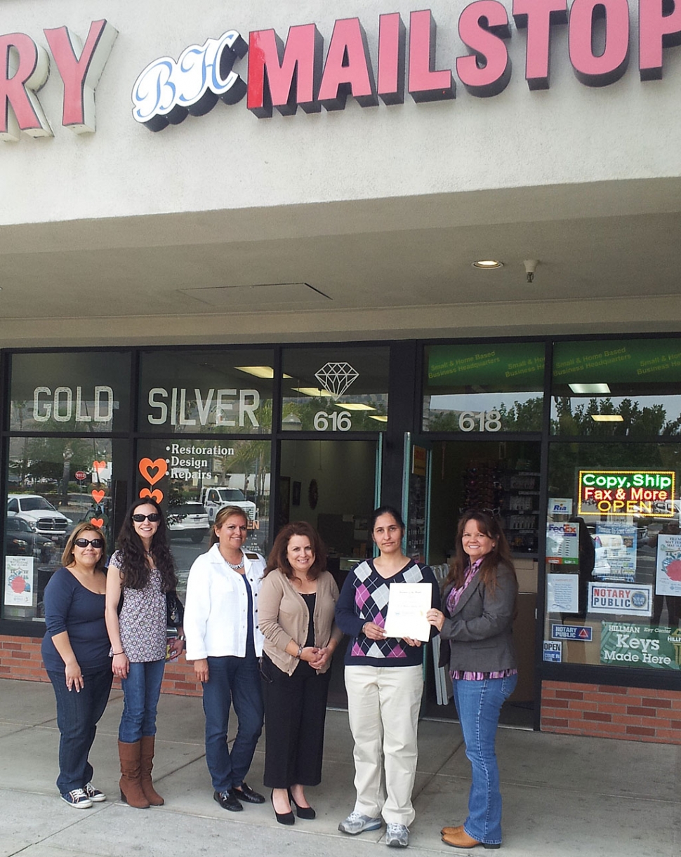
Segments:
[[[541,731],[681,744],[681,692],[544,681]]]

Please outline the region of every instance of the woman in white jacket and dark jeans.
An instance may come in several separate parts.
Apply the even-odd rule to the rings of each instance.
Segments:
[[[264,803],[244,782],[262,732],[262,687],[258,658],[262,633],[257,596],[265,569],[261,554],[244,552],[244,510],[225,506],[215,516],[211,548],[197,557],[187,582],[184,634],[187,660],[203,685],[206,762],[214,800],[231,812]],[[230,705],[238,717],[232,751],[227,745]]]

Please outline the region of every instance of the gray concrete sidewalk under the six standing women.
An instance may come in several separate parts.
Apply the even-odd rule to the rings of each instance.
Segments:
[[[121,692],[112,692],[91,761],[109,800],[75,810],[59,800],[59,734],[51,685],[0,680],[0,857],[379,857],[384,830],[340,834],[353,808],[347,715],[329,711],[324,781],[310,788],[314,821],[276,824],[271,807],[230,813],[213,800],[198,698],[163,696],[154,779],[166,806],[135,810],[118,797]],[[681,747],[501,729],[497,740],[508,857],[677,857]],[[264,741],[250,785],[262,788]],[[460,854],[440,842],[465,818],[468,763],[457,724],[422,722],[409,854]],[[394,853],[394,852],[391,852]],[[483,853],[482,848],[473,853]]]

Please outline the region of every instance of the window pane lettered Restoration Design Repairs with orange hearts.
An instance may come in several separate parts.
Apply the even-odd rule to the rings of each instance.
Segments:
[[[245,549],[267,554],[270,522],[269,440],[141,440],[136,496],[153,497],[166,512],[172,554],[184,598],[194,560],[208,550],[216,513],[244,510]]]

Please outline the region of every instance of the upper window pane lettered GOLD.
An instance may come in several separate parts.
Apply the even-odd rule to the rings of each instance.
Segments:
[[[15,354],[10,431],[97,432],[130,428],[130,354]]]

